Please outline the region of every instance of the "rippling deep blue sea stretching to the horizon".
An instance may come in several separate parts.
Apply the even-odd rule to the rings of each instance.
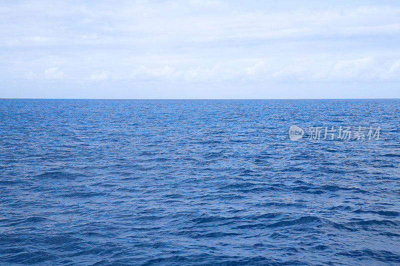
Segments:
[[[399,126],[400,100],[0,100],[0,265],[399,265]]]

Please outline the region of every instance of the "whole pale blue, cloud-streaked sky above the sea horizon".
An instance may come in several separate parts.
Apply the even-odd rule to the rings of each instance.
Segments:
[[[0,2],[0,98],[400,98],[397,0]]]

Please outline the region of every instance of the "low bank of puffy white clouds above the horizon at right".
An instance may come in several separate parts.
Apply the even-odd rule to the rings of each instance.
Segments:
[[[240,62],[232,65],[217,63],[212,67],[178,69],[164,66],[136,68],[133,81],[173,82],[345,82],[390,81],[400,76],[400,60],[390,63],[374,57],[319,60],[291,58],[285,61],[258,61],[252,65]],[[127,77],[121,77],[127,78]]]

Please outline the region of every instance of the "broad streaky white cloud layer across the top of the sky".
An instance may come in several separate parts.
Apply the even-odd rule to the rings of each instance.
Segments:
[[[235,1],[105,1],[50,4],[21,1],[0,9],[10,24],[1,35],[20,38],[18,45],[190,43],[246,39],[343,38],[400,34],[400,8],[365,4],[313,8],[240,8]],[[247,4],[251,7],[251,3]],[[13,9],[10,9],[12,8]],[[10,11],[12,10],[12,11]],[[26,16],[18,24],[9,16]],[[78,17],[79,19],[75,19]],[[12,38],[13,36],[9,36]],[[51,42],[49,41],[51,40]]]

